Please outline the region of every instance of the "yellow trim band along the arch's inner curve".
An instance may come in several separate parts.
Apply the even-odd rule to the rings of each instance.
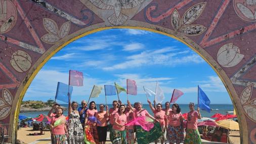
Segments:
[[[174,39],[177,39],[181,42],[183,42],[184,44],[186,44],[188,47],[190,47],[190,49],[192,49],[194,52],[196,52],[199,56],[201,56],[209,65],[212,69],[214,69],[214,71],[218,74],[218,76],[220,77],[220,79],[222,80],[222,82],[224,83],[229,95],[230,95],[230,99],[232,102],[234,102],[233,98],[231,97],[231,92],[229,90],[229,88],[227,88],[227,84],[225,83],[224,79],[221,77],[221,74],[215,69],[214,66],[212,66],[209,61],[203,57],[203,55],[201,55],[197,50],[194,49],[193,46],[191,46],[189,43],[187,43],[186,41],[174,36],[174,35],[171,35],[171,34],[168,34],[168,33],[165,33],[165,32],[161,32],[161,31],[157,31],[157,30],[154,30],[154,29],[150,29],[150,28],[145,28],[145,27],[133,27],[133,26],[113,26],[113,27],[104,27],[104,28],[97,28],[97,29],[94,29],[94,30],[91,30],[91,31],[88,31],[88,32],[85,32],[85,33],[82,33],[78,36],[75,36],[73,38],[71,38],[70,40],[64,42],[63,44],[61,44],[57,49],[55,49],[49,56],[47,56],[45,58],[44,61],[42,61],[38,66],[37,68],[34,70],[34,72],[31,74],[31,76],[29,77],[29,79],[27,80],[26,84],[24,85],[23,89],[22,89],[22,92],[21,94],[19,95],[19,100],[18,100],[18,103],[17,103],[17,107],[16,107],[16,110],[15,110],[15,114],[14,114],[14,125],[13,125],[13,131],[12,131],[12,141],[14,143],[14,141],[16,140],[16,124],[17,124],[17,120],[18,120],[18,117],[19,117],[19,111],[20,111],[20,107],[21,107],[21,102],[24,98],[24,95],[29,87],[29,85],[31,84],[32,80],[34,79],[34,77],[36,76],[36,74],[40,71],[40,69],[58,52],[60,51],[64,46],[68,45],[69,43],[71,43],[72,41],[76,40],[76,39],[79,39],[83,36],[86,36],[86,35],[89,35],[89,34],[92,34],[92,33],[95,33],[95,32],[98,32],[98,31],[102,31],[102,30],[107,30],[107,29],[112,29],[112,28],[126,28],[126,29],[140,29],[140,30],[146,30],[146,31],[151,31],[151,32],[155,32],[155,33],[159,33],[159,34],[163,34],[163,35],[166,35],[166,36],[169,36],[169,37],[172,37]],[[235,105],[233,104],[234,108],[236,109]],[[236,109],[236,112],[237,109]],[[240,119],[239,115],[238,115],[238,118]],[[15,134],[14,134],[15,133]],[[242,141],[241,141],[242,142]]]

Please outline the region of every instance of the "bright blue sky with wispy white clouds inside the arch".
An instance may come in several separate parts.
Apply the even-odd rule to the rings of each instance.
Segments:
[[[126,87],[126,78],[130,78],[138,87],[138,95],[129,95],[132,103],[147,103],[143,85],[155,90],[158,81],[165,95],[163,102],[170,101],[176,88],[184,92],[178,104],[197,103],[199,84],[211,104],[232,104],[216,72],[188,46],[165,35],[135,29],[104,30],[66,45],[38,72],[23,101],[54,99],[57,82],[68,83],[69,69],[83,72],[83,86],[74,86],[72,93],[72,100],[78,103],[88,101],[94,84],[116,82]],[[107,103],[116,99],[116,95],[107,96]],[[126,93],[120,93],[120,99],[125,102]],[[105,103],[104,90],[92,100]]]

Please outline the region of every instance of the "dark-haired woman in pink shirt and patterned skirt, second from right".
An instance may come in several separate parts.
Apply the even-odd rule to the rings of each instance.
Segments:
[[[181,143],[184,140],[183,117],[178,104],[172,105],[172,111],[169,112],[168,127],[166,137],[169,143]]]

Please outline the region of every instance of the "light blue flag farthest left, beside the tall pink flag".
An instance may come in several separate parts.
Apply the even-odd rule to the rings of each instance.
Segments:
[[[69,86],[69,94],[71,99],[71,94],[73,91],[73,86]],[[68,103],[68,85],[62,82],[58,82],[57,91],[56,91],[56,100]]]

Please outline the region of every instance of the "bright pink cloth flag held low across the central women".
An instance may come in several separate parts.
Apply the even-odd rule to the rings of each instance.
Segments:
[[[146,121],[146,117],[134,118],[132,121],[126,123],[125,125],[139,125],[146,131],[150,131],[154,127],[154,123]]]

